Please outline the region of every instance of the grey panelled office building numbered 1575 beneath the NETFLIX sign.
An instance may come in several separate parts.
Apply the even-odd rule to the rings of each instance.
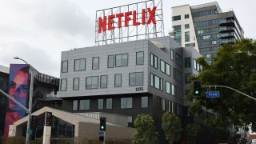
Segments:
[[[130,126],[138,114],[150,114],[158,124],[165,110],[185,116],[185,74],[202,69],[195,62],[200,56],[169,36],[64,51],[62,110],[127,115]]]

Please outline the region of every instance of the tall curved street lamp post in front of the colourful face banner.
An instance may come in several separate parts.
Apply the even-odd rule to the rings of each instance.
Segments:
[[[14,58],[14,59],[19,59],[25,62],[28,66],[28,64],[24,59],[22,58]],[[30,68],[30,67],[29,67]],[[32,109],[32,97],[33,97],[33,83],[34,83],[34,76],[33,76],[33,70],[29,69],[29,74],[30,74],[30,99],[29,99],[29,112],[28,112],[28,120],[27,120],[27,126],[26,126],[26,144],[30,143],[30,134],[28,133],[28,130],[30,130],[30,124],[31,124],[31,109]]]

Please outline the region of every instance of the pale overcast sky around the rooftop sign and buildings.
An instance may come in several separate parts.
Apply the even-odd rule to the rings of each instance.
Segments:
[[[162,0],[165,32],[171,29],[172,6],[210,0]],[[94,46],[95,12],[136,0],[0,0],[0,65],[22,63],[59,77],[61,52]],[[255,0],[218,0],[222,10],[233,9],[246,38],[256,38]]]

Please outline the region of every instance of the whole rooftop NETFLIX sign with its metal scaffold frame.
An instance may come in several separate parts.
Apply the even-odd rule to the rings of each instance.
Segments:
[[[96,11],[95,45],[164,36],[162,0]]]

